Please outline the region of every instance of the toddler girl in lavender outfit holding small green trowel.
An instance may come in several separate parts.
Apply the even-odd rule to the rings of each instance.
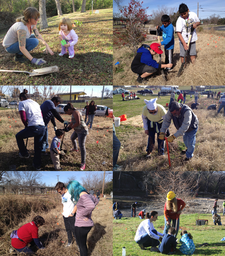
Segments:
[[[69,18],[64,17],[60,20],[59,26],[59,40],[62,41],[63,39],[66,40],[67,44],[61,44],[61,53],[59,56],[67,55],[67,50],[69,51],[69,58],[72,59],[74,57],[74,45],[78,41],[78,36],[76,35],[75,31],[72,29],[72,23]]]

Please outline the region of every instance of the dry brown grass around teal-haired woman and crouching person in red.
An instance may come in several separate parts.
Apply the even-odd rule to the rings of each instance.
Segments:
[[[0,201],[4,202],[4,199],[7,199],[7,197],[1,197]],[[87,246],[90,256],[111,256],[113,254],[112,203],[110,200],[101,200],[92,213],[92,220],[94,221],[95,226],[91,229],[87,237]],[[75,241],[72,247],[69,248],[65,248],[65,243],[61,242],[65,241],[67,243],[67,232],[65,230],[63,217],[60,214],[62,213],[61,200],[57,200],[54,205],[56,208],[47,212],[32,211],[30,214],[27,214],[27,217],[21,220],[17,225],[8,228],[0,239],[0,255],[9,255],[9,249],[12,248],[10,239],[11,232],[30,222],[33,217],[40,214],[45,220],[45,225],[39,228],[39,238],[46,249],[37,250],[35,255],[78,256],[79,253]],[[17,255],[23,254],[18,253]]]

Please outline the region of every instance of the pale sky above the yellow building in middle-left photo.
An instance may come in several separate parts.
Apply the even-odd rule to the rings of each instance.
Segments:
[[[7,89],[8,86],[4,85],[3,86],[3,92],[4,90]],[[108,87],[111,90],[113,89],[113,86],[105,86],[105,88]],[[23,89],[26,88],[29,91],[29,86],[23,87]],[[56,86],[56,88],[59,88],[59,86]],[[31,89],[31,93],[33,93],[34,91],[32,91],[32,86],[30,86]],[[94,85],[94,86],[79,86],[79,85],[72,85],[72,92],[80,92],[80,91],[85,91],[85,93],[87,94],[87,96],[91,96],[92,93],[92,89],[93,89],[93,96],[98,96],[101,97],[101,91],[103,90],[103,86],[101,85]],[[62,86],[61,87],[61,91],[63,90],[64,93],[66,93],[67,91],[70,92],[70,86]],[[6,94],[8,94],[8,91],[6,92]]]

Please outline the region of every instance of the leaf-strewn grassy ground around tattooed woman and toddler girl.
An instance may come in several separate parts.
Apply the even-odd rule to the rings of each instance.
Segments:
[[[61,44],[58,39],[58,24],[60,17],[53,16],[48,18],[48,32],[41,32],[41,36],[49,44],[54,55],[44,55],[45,49],[41,43],[31,51],[34,58],[44,58],[47,61],[42,67],[57,65],[58,72],[42,76],[28,77],[25,74],[1,73],[0,83],[13,83],[19,85],[112,85],[112,12],[113,8],[101,9],[99,14],[71,13],[64,16],[70,18],[72,23],[75,20],[81,21],[82,26],[74,28],[78,38],[74,46],[75,56],[73,59],[66,56],[58,56],[61,52]],[[40,26],[37,25],[39,32]],[[28,64],[20,64],[14,61],[14,54],[8,54],[2,42],[7,31],[0,33],[0,68],[9,70],[26,70],[32,72],[32,69],[40,67]]]

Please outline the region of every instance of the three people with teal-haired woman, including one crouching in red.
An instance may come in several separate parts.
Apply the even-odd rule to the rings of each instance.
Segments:
[[[55,189],[62,198],[62,216],[68,239],[65,247],[72,247],[74,236],[80,256],[87,256],[87,235],[94,226],[91,215],[99,199],[94,197],[76,180],[70,181],[67,187],[64,183],[58,182]],[[23,225],[18,230],[14,230],[11,234],[11,243],[15,252],[33,255],[32,248],[28,246],[29,243],[31,246],[36,245],[39,249],[44,250],[45,247],[40,242],[38,235],[39,227],[44,224],[44,218],[36,216],[31,222]]]

